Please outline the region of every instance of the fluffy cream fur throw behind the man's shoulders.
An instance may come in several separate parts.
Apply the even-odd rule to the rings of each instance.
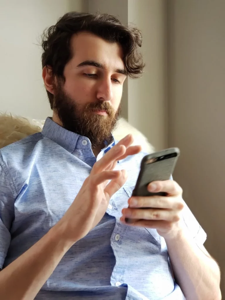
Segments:
[[[44,122],[45,121],[43,120],[32,120],[20,116],[0,114],[0,149],[27,137],[30,134],[40,132]],[[117,128],[113,131],[116,140],[121,140],[130,133],[134,137],[133,145],[141,145],[145,152],[154,152],[154,148],[148,142],[147,138],[125,119],[120,118]]]

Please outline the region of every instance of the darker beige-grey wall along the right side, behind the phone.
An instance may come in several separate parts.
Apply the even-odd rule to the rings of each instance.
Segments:
[[[208,234],[225,296],[225,1],[168,2],[169,145],[174,177]]]

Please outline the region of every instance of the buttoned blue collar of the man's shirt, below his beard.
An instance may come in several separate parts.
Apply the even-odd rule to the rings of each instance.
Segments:
[[[43,129],[42,129],[42,135],[44,137],[49,138],[53,142],[57,143],[64,149],[66,149],[68,152],[72,153],[74,149],[82,149],[82,148],[91,148],[91,142],[87,137],[82,137],[79,134],[76,134],[72,131],[69,131],[54,121],[52,121],[51,118],[47,118]],[[86,140],[87,143],[83,143],[83,141]],[[112,135],[112,138],[110,139],[110,143],[108,146],[114,146],[115,145],[115,140]],[[106,145],[107,147],[107,145]],[[110,148],[111,148],[110,147]]]

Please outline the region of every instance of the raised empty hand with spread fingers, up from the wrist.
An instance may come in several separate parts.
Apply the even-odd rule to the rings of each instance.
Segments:
[[[117,161],[141,150],[140,146],[131,146],[132,143],[133,137],[129,134],[94,164],[73,203],[53,227],[63,239],[75,243],[102,219],[110,198],[127,180],[125,170],[114,170]]]

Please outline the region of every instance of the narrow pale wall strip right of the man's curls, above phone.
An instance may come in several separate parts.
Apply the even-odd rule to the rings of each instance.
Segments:
[[[167,147],[165,1],[128,0],[128,20],[142,30],[146,63],[141,79],[128,79],[128,121],[162,150]]]

